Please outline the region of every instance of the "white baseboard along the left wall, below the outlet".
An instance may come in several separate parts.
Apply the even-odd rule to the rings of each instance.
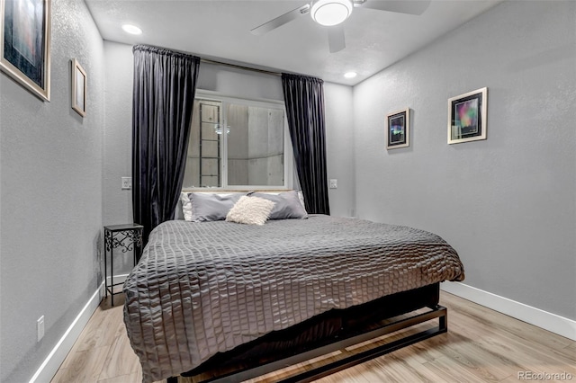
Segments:
[[[58,368],[62,364],[62,362],[66,359],[66,356],[70,350],[72,350],[72,346],[82,333],[85,325],[90,320],[90,316],[94,314],[98,305],[100,305],[100,301],[104,296],[104,283],[100,285],[98,289],[92,295],[92,298],[88,300],[85,304],[85,307],[82,308],[80,313],[74,319],[74,322],[67,328],[66,333],[62,335],[56,346],[52,349],[49,353],[48,357],[42,362],[40,368],[36,371],[34,376],[30,379],[30,383],[43,383],[49,382],[56,372],[58,372]]]

